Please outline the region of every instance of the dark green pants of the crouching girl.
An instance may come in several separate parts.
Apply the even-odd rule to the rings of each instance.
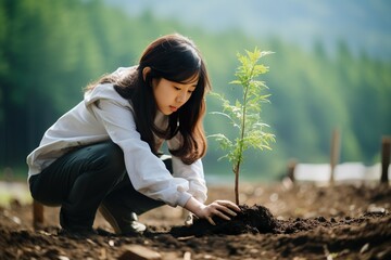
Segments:
[[[164,161],[172,172],[172,161]],[[61,206],[64,229],[90,229],[99,205],[115,204],[141,214],[164,205],[137,192],[125,169],[123,151],[113,142],[80,147],[56,159],[29,180],[34,199]]]

